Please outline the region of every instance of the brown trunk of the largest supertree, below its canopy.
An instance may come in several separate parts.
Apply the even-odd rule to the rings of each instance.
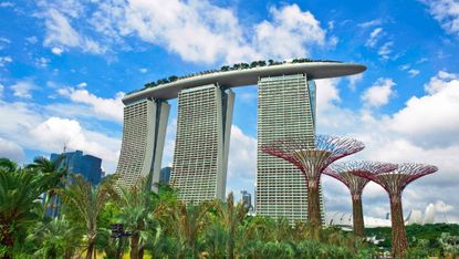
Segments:
[[[317,180],[307,183],[307,221],[311,226],[313,237],[317,239],[319,230],[322,228],[321,198]]]

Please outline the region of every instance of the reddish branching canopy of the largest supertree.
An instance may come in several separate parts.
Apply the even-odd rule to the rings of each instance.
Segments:
[[[330,164],[342,157],[352,155],[362,151],[365,145],[354,138],[337,137],[330,135],[316,135],[314,139],[305,138],[284,138],[262,145],[262,152],[281,157],[300,168],[303,174],[305,168],[294,155],[299,151],[323,151],[328,156],[321,163],[319,172],[325,169]]]

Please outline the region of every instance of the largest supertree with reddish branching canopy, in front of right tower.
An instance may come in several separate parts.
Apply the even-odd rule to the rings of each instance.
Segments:
[[[333,162],[359,152],[364,144],[354,138],[316,135],[313,139],[278,139],[261,149],[295,165],[307,185],[307,221],[313,230],[320,229],[321,205],[319,185],[322,172]]]

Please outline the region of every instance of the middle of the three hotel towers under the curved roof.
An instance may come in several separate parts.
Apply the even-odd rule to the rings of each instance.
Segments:
[[[234,94],[218,85],[178,94],[170,184],[186,201],[225,198]]]

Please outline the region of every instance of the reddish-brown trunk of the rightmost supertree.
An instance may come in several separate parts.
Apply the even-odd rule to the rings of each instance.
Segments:
[[[404,251],[408,248],[405,232],[404,211],[401,208],[401,195],[394,194],[390,197],[390,217],[392,217],[392,256],[393,258],[403,258]]]

